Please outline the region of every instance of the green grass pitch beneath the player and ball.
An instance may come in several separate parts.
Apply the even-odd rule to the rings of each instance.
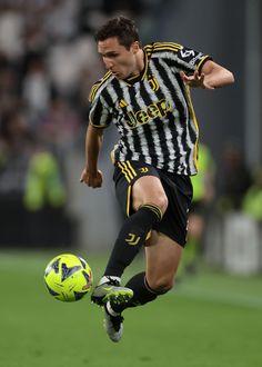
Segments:
[[[261,277],[201,270],[157,301],[127,310],[123,339],[113,344],[89,295],[64,304],[47,292],[43,269],[54,255],[0,252],[1,367],[262,366]],[[98,280],[105,257],[79,255]]]

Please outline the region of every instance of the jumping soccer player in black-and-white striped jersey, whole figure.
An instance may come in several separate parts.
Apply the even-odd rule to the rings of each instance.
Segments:
[[[128,18],[109,20],[95,39],[108,72],[90,92],[80,181],[101,187],[98,157],[103,130],[113,122],[120,135],[112,151],[113,178],[127,220],[91,299],[104,307],[105,330],[119,341],[122,311],[172,288],[185,245],[199,136],[190,87],[212,90],[232,83],[234,77],[210,56],[179,43],[142,47]],[[143,246],[145,271],[121,287],[124,269]]]

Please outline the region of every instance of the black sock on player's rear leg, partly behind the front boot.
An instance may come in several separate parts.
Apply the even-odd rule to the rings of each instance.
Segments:
[[[115,313],[122,313],[125,308],[145,305],[158,297],[158,294],[150,289],[144,271],[133,276],[125,287],[133,290],[133,297],[125,304],[111,302],[111,307]]]

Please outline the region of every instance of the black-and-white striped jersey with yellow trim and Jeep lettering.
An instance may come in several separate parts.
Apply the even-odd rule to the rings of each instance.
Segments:
[[[198,171],[198,123],[180,71],[193,73],[210,59],[173,42],[143,47],[144,69],[125,80],[110,71],[93,85],[90,123],[115,123],[120,139],[113,161],[134,160],[178,175]]]

